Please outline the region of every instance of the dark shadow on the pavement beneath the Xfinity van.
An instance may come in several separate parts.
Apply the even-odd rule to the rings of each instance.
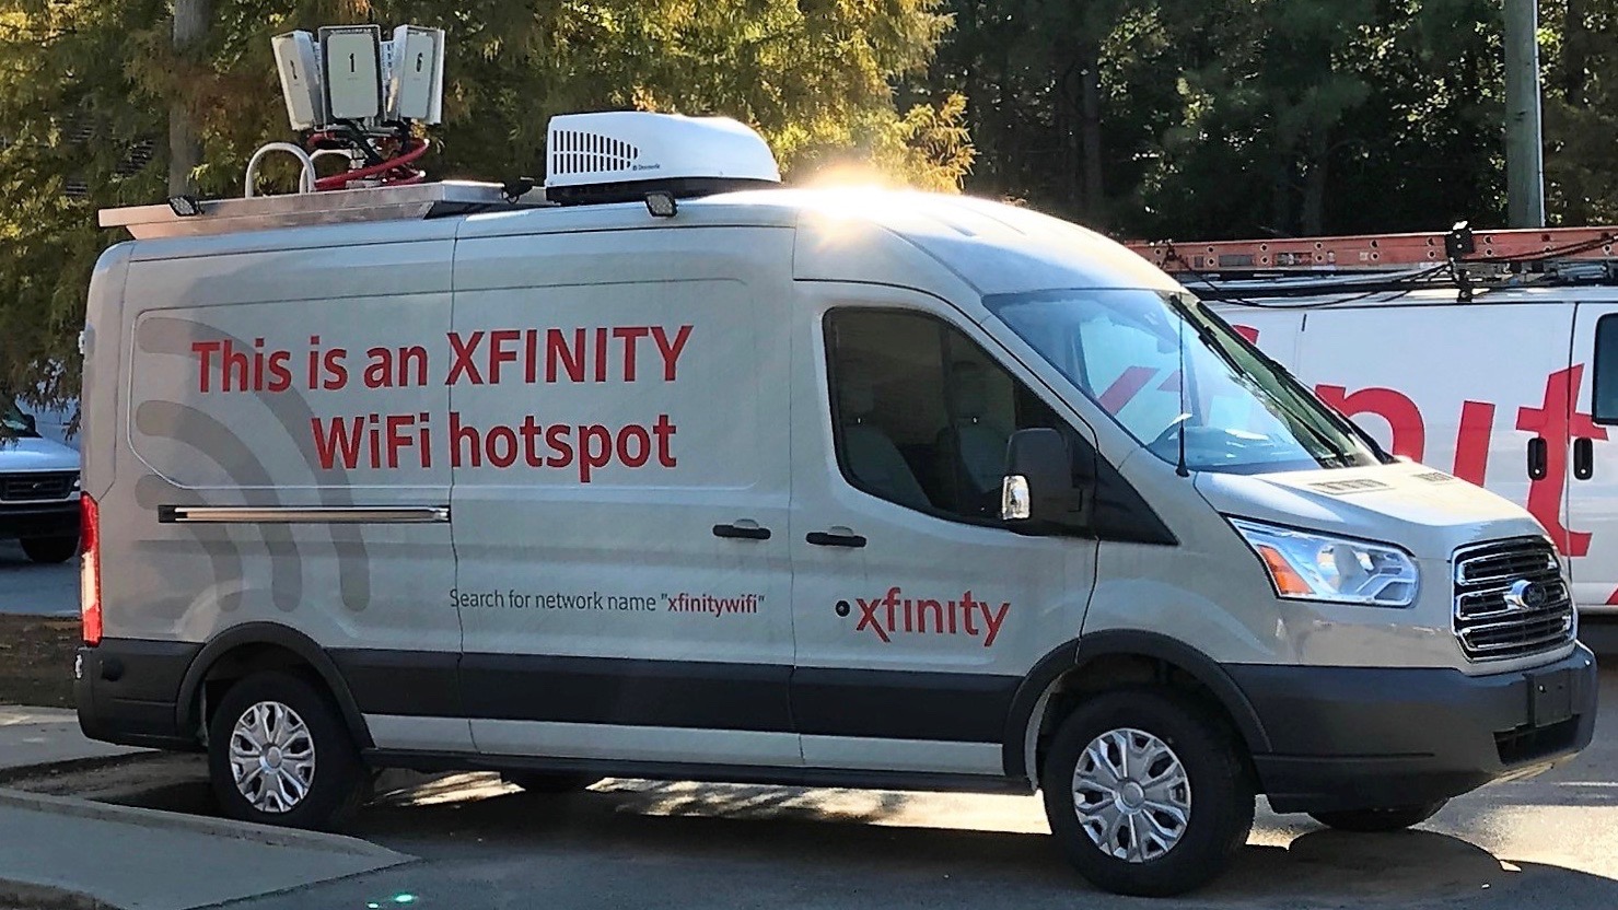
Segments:
[[[474,784],[468,777],[485,777]],[[468,792],[468,787],[482,792]],[[1040,832],[943,828],[914,794],[804,790],[723,784],[608,781],[571,795],[458,776],[382,795],[353,834],[429,862],[487,849],[544,855],[621,853],[712,870],[733,863],[773,870],[786,895],[814,881],[903,887],[906,904],[959,902],[963,889],[1002,905],[1120,907],[1089,889]],[[434,802],[447,800],[447,802]],[[896,824],[898,816],[903,824]],[[929,826],[929,816],[937,826]],[[880,887],[880,886],[879,886]],[[1532,891],[1524,891],[1532,889]],[[1513,897],[1514,895],[1514,897]],[[1555,900],[1548,900],[1548,899]],[[762,899],[762,895],[760,895]],[[1288,847],[1249,844],[1233,868],[1175,907],[1618,907],[1618,881],[1534,863],[1502,863],[1446,834],[1345,834],[1312,829]]]

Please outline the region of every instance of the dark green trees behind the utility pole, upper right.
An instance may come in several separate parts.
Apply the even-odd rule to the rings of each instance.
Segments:
[[[1552,220],[1618,220],[1618,0],[1540,6]],[[969,191],[1146,238],[1505,223],[1498,0],[948,8],[927,87],[971,102]]]

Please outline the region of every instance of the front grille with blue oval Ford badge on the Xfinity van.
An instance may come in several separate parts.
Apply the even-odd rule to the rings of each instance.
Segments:
[[[1573,593],[1547,540],[1466,546],[1455,554],[1455,635],[1477,661],[1553,651],[1573,640]]]

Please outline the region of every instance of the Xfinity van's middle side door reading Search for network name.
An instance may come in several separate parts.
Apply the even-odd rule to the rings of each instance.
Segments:
[[[791,231],[471,230],[447,432],[477,748],[798,765]]]

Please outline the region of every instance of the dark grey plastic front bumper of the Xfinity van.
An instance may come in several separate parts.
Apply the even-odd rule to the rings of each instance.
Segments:
[[[1595,656],[1521,672],[1225,664],[1270,740],[1275,811],[1393,808],[1548,769],[1595,731]]]

